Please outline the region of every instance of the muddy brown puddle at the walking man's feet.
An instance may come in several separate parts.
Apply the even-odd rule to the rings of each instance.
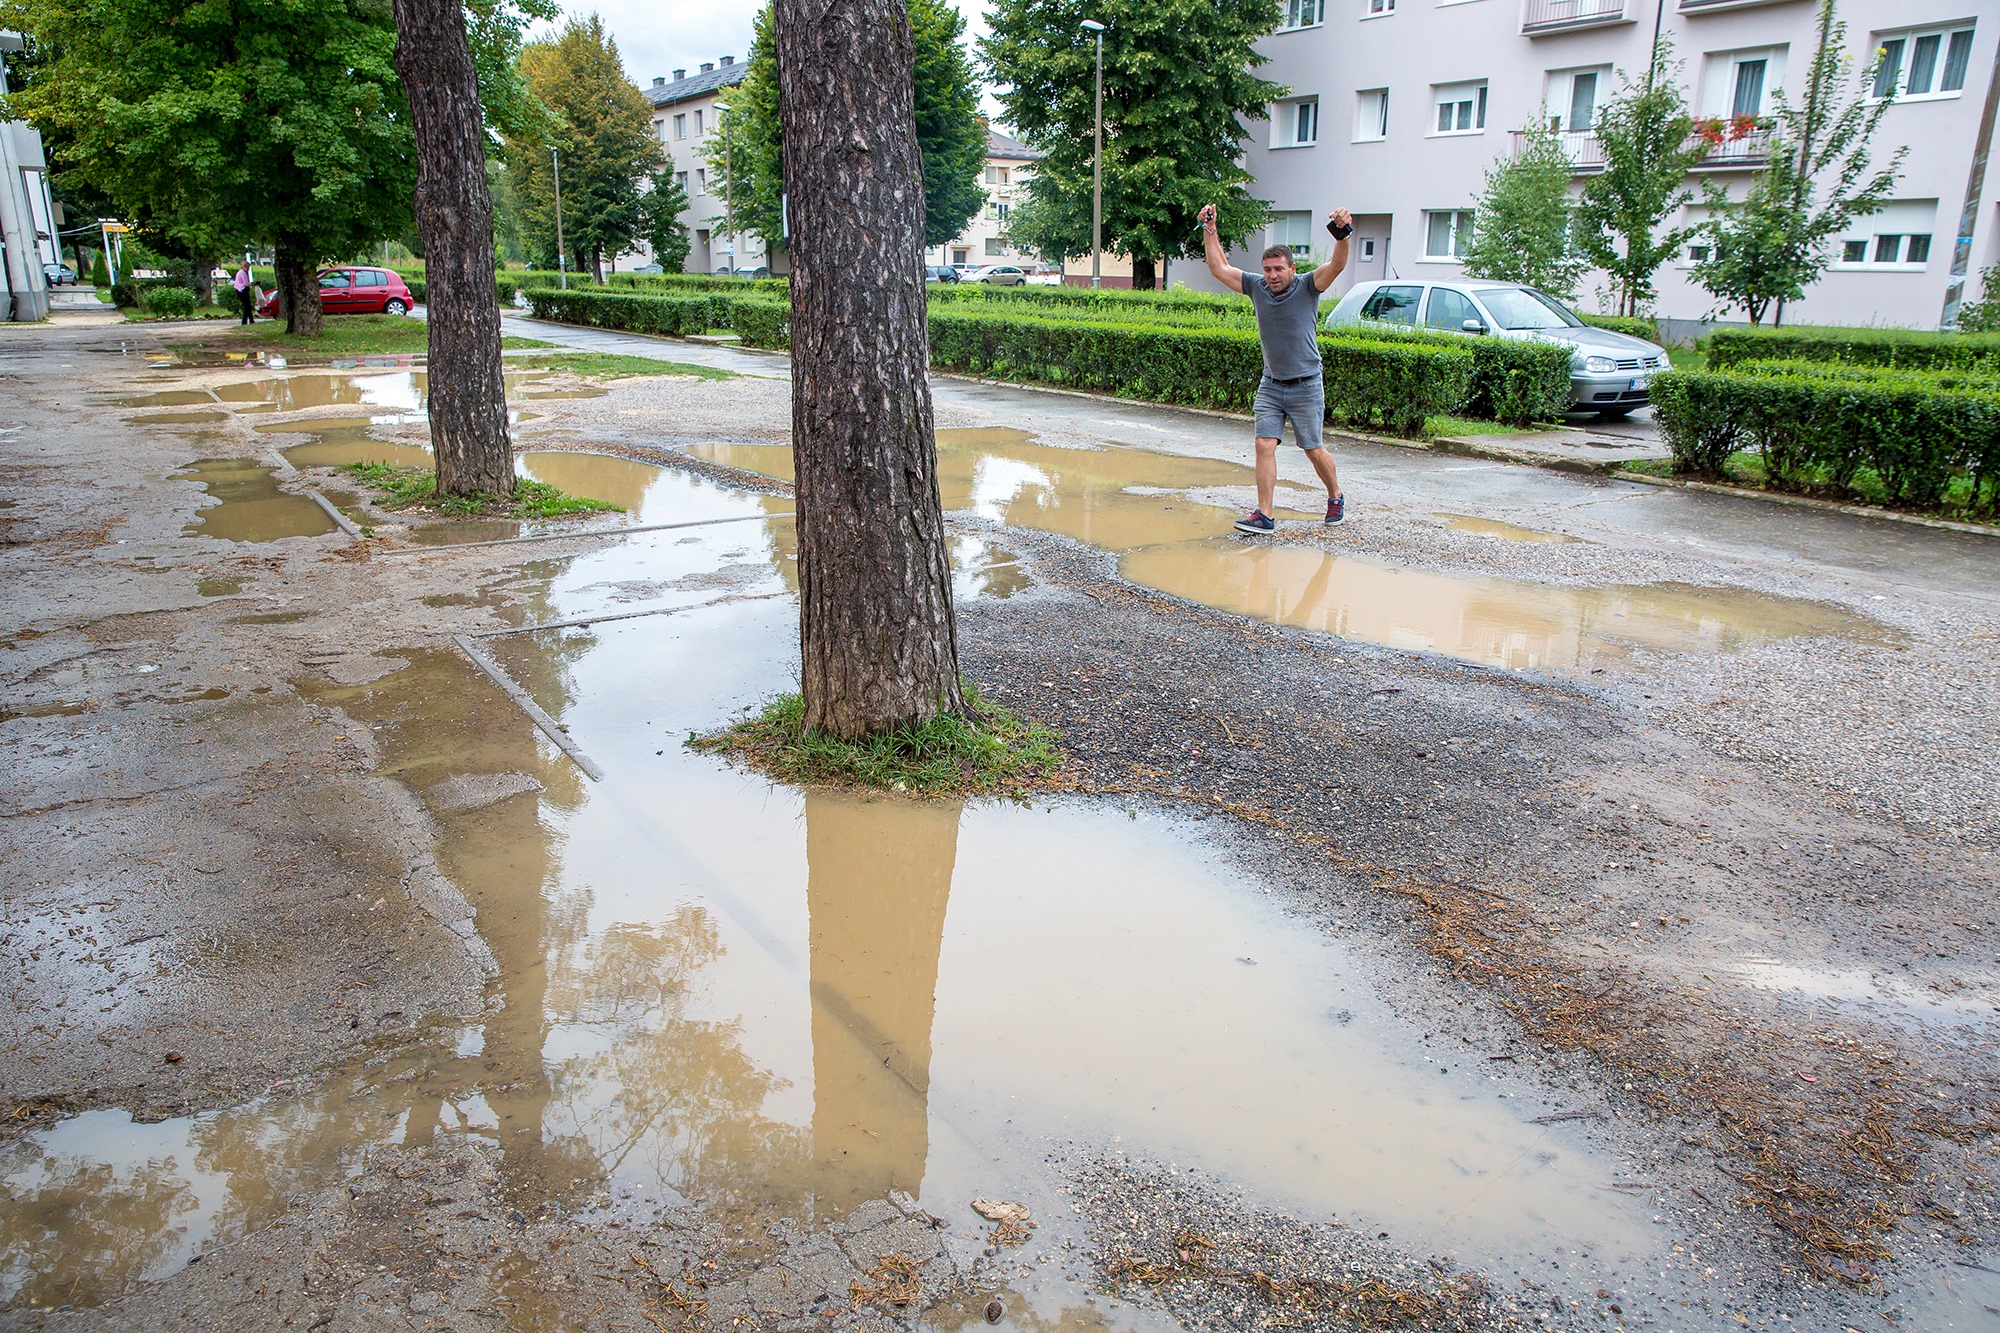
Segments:
[[[786,444],[698,444],[688,452],[766,476],[792,476]],[[1732,652],[1778,638],[1892,640],[1878,622],[1826,602],[1730,586],[1574,586],[1376,564],[1316,546],[1226,536],[1234,510],[1188,492],[1246,488],[1238,462],[1142,448],[1050,448],[1022,430],[938,430],[946,508],[1060,532],[1122,552],[1140,584],[1220,610],[1390,648],[1442,652],[1488,666],[1594,671],[1656,652]],[[1306,502],[1310,492],[1280,486]],[[1286,516],[1298,510],[1278,510]],[[1446,526],[1528,542],[1570,542],[1470,514]]]

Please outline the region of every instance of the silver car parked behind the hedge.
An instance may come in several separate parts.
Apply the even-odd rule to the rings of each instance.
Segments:
[[[1520,282],[1356,282],[1326,316],[1326,326],[1382,320],[1470,336],[1568,342],[1574,410],[1606,420],[1648,402],[1652,376],[1666,370],[1666,348],[1608,328],[1592,328],[1568,306]]]

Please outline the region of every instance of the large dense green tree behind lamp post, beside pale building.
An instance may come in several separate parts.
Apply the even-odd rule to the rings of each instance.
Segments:
[[[1008,232],[1036,254],[1090,252],[1096,48],[1104,32],[1104,248],[1132,256],[1132,284],[1158,260],[1202,252],[1196,214],[1218,206],[1224,242],[1270,220],[1250,196],[1244,118],[1262,120],[1284,88],[1252,70],[1256,40],[1278,26],[1274,0],[996,0],[980,42],[1014,132],[1042,150]]]

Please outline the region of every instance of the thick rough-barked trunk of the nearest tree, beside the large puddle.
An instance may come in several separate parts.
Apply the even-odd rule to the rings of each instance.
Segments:
[[[778,0],[806,727],[964,709],[924,322],[904,0]]]

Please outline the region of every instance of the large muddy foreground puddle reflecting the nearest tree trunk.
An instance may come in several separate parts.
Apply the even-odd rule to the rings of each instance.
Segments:
[[[1468,1263],[1654,1255],[1644,1203],[1606,1185],[1618,1163],[1532,1123],[1560,1107],[1470,1051],[1428,1059],[1366,951],[1302,929],[1184,821],[802,795],[686,751],[794,677],[794,548],[770,496],[664,472],[642,512],[660,484],[680,516],[752,520],[532,560],[510,590],[530,624],[666,614],[480,640],[602,783],[448,646],[360,687],[298,681],[436,821],[496,963],[484,1011],[302,1095],[92,1111],[0,1149],[0,1303],[110,1299],[376,1145],[440,1135],[490,1141],[524,1209],[584,1217],[810,1221],[898,1189],[978,1245],[968,1201],[1022,1199],[1042,1221],[1024,1259],[1054,1263],[1002,1277],[1044,1321],[1084,1275],[1050,1167],[1076,1149]],[[1016,568],[988,556],[960,558],[960,596],[1014,590],[982,590]]]

